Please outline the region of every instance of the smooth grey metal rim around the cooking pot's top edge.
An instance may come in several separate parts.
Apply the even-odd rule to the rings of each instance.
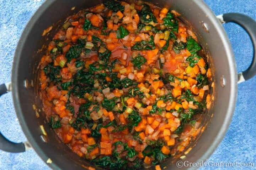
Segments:
[[[15,55],[14,55],[14,59],[13,59],[13,65],[12,65],[12,98],[14,101],[14,106],[15,106],[15,111],[16,111],[16,115],[17,118],[20,122],[21,128],[24,132],[24,134],[26,135],[28,141],[30,142],[30,144],[32,145],[34,151],[36,151],[36,153],[39,155],[39,157],[44,161],[47,162],[47,159],[49,158],[48,155],[44,152],[43,149],[41,149],[39,147],[39,145],[37,144],[37,142],[34,140],[33,136],[30,133],[30,129],[28,128],[26,122],[25,122],[25,118],[23,116],[22,113],[22,109],[21,109],[21,104],[20,104],[20,97],[18,96],[18,65],[20,63],[20,59],[21,59],[21,52],[24,46],[25,41],[23,39],[26,39],[28,34],[30,34],[30,31],[32,30],[34,24],[38,21],[38,18],[41,17],[41,15],[43,14],[43,12],[50,6],[53,4],[54,1],[49,1],[46,0],[39,8],[38,10],[34,13],[34,15],[31,17],[30,21],[27,23],[26,27],[24,28],[21,36],[20,36],[20,40],[18,41],[17,44],[17,48],[15,51]],[[204,152],[204,154],[201,155],[201,157],[199,157],[197,159],[197,162],[201,162],[201,161],[205,161],[206,159],[208,159],[210,157],[210,155],[212,155],[212,153],[215,151],[215,149],[218,147],[219,143],[223,140],[226,131],[229,128],[230,122],[231,122],[231,118],[233,117],[233,113],[234,113],[234,109],[235,109],[235,104],[236,104],[236,97],[237,97],[237,71],[236,71],[236,62],[234,59],[234,54],[233,54],[233,50],[231,48],[230,45],[230,41],[228,39],[228,36],[224,30],[224,28],[222,27],[221,23],[219,22],[219,20],[216,18],[215,14],[213,13],[213,11],[205,4],[205,2],[203,2],[202,0],[193,0],[193,2],[195,4],[197,4],[198,8],[201,8],[201,10],[204,13],[207,13],[208,18],[211,20],[211,22],[214,24],[215,28],[217,29],[222,42],[224,44],[224,49],[226,51],[226,55],[228,58],[228,66],[229,66],[229,70],[230,73],[232,73],[230,75],[230,100],[228,103],[228,109],[225,115],[225,120],[224,123],[222,125],[222,127],[219,129],[219,133],[218,135],[215,137],[214,141],[212,141],[212,145],[207,149],[206,152]],[[50,166],[50,168],[52,169],[60,169],[60,167],[55,164],[54,162],[47,164],[48,166]],[[196,167],[190,167],[190,169],[195,169]]]

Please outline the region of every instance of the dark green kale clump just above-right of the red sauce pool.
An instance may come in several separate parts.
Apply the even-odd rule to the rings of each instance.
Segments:
[[[134,46],[131,48],[132,50],[154,50],[155,49],[155,43],[154,43],[154,36],[151,35],[149,37],[149,40],[142,40],[140,42],[136,42]]]

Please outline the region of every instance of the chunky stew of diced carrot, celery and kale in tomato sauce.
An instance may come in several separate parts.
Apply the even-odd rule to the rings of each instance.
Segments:
[[[66,19],[41,59],[49,125],[95,166],[159,170],[166,158],[189,152],[202,130],[211,105],[203,54],[167,8],[107,1],[81,10]]]

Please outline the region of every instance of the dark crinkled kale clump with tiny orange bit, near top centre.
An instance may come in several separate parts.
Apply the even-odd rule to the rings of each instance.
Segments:
[[[138,11],[140,21],[145,23],[157,23],[156,17],[154,16],[153,12],[151,11],[150,7],[147,4],[143,4],[143,8],[141,11]]]

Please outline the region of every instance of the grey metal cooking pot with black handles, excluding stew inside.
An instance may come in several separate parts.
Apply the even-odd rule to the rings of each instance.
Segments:
[[[0,95],[12,90],[16,114],[28,142],[14,143],[0,133],[0,149],[7,152],[24,152],[32,147],[53,169],[79,170],[90,166],[90,162],[80,158],[62,143],[48,125],[38,95],[38,64],[44,55],[44,49],[66,17],[82,8],[102,2],[102,0],[48,0],[31,18],[18,42],[11,83],[0,85]],[[201,162],[214,152],[229,127],[235,108],[237,84],[256,74],[256,51],[254,51],[251,66],[245,72],[237,74],[233,51],[221,23],[234,22],[242,26],[250,35],[255,49],[256,22],[239,13],[227,13],[216,17],[202,0],[152,0],[150,2],[180,13],[180,19],[193,29],[198,41],[207,52],[207,60],[213,73],[211,90],[213,104],[204,115],[202,122],[204,131],[191,142],[188,147],[193,149],[186,154],[185,158],[183,157],[183,161]],[[43,30],[50,26],[53,26],[52,30],[42,36]],[[42,127],[45,132],[42,131]],[[182,169],[177,168],[175,163],[181,155],[185,153],[165,160],[161,163],[161,167]]]

